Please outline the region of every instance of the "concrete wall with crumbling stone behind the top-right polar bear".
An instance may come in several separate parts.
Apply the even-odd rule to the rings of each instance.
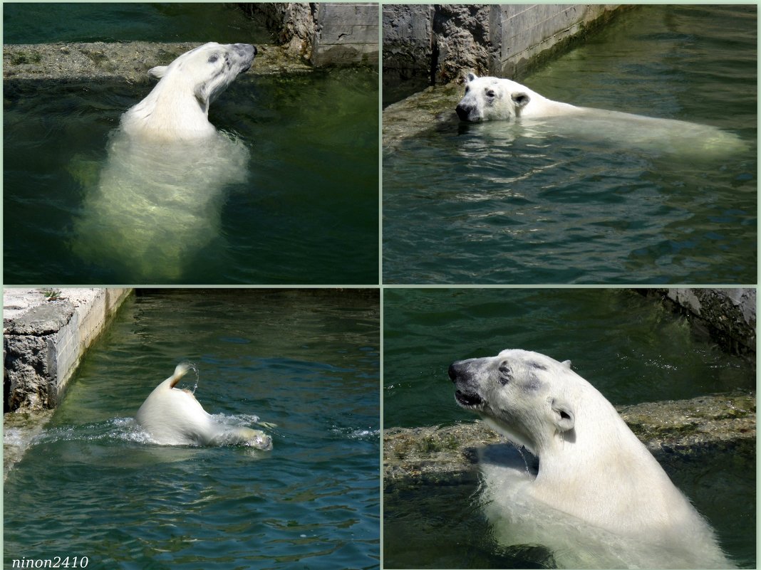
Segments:
[[[384,89],[447,84],[464,71],[521,78],[617,5],[384,5]]]

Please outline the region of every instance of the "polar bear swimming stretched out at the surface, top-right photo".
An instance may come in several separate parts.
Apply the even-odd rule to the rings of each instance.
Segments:
[[[455,109],[463,122],[514,121],[527,135],[571,135],[613,141],[623,147],[686,155],[734,155],[748,150],[737,135],[710,125],[578,107],[543,97],[504,78],[469,73]]]

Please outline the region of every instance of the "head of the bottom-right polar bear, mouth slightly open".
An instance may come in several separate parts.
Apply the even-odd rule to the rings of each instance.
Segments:
[[[587,386],[594,391],[572,372],[570,361],[527,350],[460,360],[449,367],[449,376],[457,404],[537,455],[553,439],[572,435],[579,392]]]

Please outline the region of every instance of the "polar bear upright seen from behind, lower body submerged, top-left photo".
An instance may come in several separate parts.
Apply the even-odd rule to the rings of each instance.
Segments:
[[[224,188],[249,153],[209,122],[209,105],[250,68],[256,48],[205,43],[148,73],[160,78],[110,136],[97,184],[84,188],[72,249],[126,282],[182,280],[222,239]]]

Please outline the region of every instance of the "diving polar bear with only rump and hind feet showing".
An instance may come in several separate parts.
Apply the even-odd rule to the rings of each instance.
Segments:
[[[193,369],[180,363],[174,374],[145,398],[135,421],[159,445],[248,445],[272,449],[272,438],[259,429],[230,426],[214,419],[188,390],[175,388]]]

